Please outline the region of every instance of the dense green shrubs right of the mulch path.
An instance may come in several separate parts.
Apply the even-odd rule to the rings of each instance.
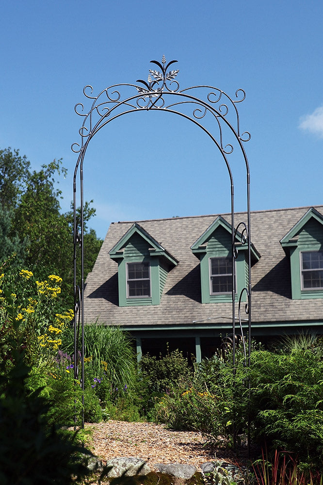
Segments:
[[[226,357],[226,358],[225,358]],[[289,450],[308,467],[323,469],[323,361],[320,353],[291,350],[251,353],[250,368],[237,353],[236,366],[221,353],[195,364],[194,376],[156,404],[168,426],[219,436],[226,445],[246,435],[254,443]],[[250,404],[248,398],[250,397]]]

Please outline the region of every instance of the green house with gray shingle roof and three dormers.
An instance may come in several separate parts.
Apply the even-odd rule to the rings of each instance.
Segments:
[[[165,342],[211,355],[232,332],[230,231],[230,214],[112,223],[86,280],[85,323],[120,325],[139,355]],[[239,237],[238,294],[248,277]],[[323,206],[253,211],[251,259],[252,336],[322,334]]]

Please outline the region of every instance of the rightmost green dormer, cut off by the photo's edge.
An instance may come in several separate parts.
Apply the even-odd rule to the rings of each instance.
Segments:
[[[293,300],[323,298],[323,216],[311,207],[281,239],[291,260]]]

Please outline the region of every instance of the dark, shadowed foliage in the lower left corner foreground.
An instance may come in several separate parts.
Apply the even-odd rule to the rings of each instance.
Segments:
[[[19,346],[18,346],[19,349]],[[77,435],[48,427],[50,402],[41,389],[30,392],[30,372],[23,353],[12,352],[0,370],[0,483],[3,485],[70,484],[89,474]]]

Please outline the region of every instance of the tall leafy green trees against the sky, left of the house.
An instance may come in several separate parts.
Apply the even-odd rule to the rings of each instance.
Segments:
[[[16,260],[11,262],[12,274],[20,266],[36,273],[40,279],[46,279],[48,274],[60,275],[62,303],[71,306],[74,300],[73,217],[71,211],[61,212],[58,188],[61,176],[66,176],[62,160],[31,171],[30,162],[25,156],[20,157],[18,150],[0,150],[0,264],[16,253]],[[85,278],[102,244],[93,229],[87,232],[87,223],[95,215],[92,202],[84,203]],[[80,270],[77,277],[80,281]]]

